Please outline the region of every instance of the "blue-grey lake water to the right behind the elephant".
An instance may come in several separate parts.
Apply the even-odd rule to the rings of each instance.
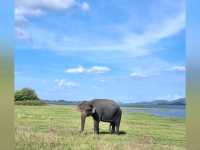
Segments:
[[[185,108],[136,108],[122,107],[124,112],[141,112],[165,118],[185,118]]]

